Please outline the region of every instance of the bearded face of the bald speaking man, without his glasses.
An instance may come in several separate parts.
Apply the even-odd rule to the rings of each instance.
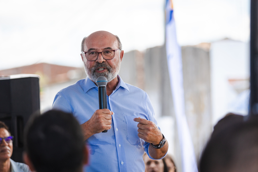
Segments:
[[[102,52],[103,50],[108,49],[118,49],[118,41],[116,37],[108,32],[94,32],[85,40],[84,52]],[[110,82],[117,77],[119,73],[122,52],[120,53],[120,50],[115,51],[114,58],[111,60],[105,60],[101,53],[99,53],[98,58],[95,61],[88,61],[83,53],[82,60],[86,75],[89,77],[89,79],[96,82],[99,76],[104,76],[107,78],[107,81]]]

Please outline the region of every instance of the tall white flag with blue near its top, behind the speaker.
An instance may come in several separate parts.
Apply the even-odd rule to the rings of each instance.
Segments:
[[[198,169],[194,154],[194,147],[184,111],[181,48],[176,40],[176,26],[173,16],[173,4],[171,0],[166,0],[166,53],[181,148],[182,170],[183,172],[197,172]]]

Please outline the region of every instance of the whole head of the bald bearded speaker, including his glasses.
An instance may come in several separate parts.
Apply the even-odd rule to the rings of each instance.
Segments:
[[[117,77],[124,55],[118,36],[107,31],[93,32],[83,38],[81,52],[85,72],[90,80],[96,82],[99,76],[104,76],[110,82]]]

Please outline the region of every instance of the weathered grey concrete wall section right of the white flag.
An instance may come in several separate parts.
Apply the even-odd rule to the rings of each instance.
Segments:
[[[198,159],[212,131],[209,51],[182,47],[185,113]]]

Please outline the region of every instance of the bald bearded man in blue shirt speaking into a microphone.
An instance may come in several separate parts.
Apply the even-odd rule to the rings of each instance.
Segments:
[[[144,172],[144,151],[152,159],[161,159],[168,142],[157,126],[147,93],[118,75],[124,55],[120,39],[96,31],[83,38],[81,52],[87,78],[58,92],[53,109],[72,113],[81,124],[89,147],[84,171]],[[99,109],[96,81],[100,76],[107,79],[107,109]]]

